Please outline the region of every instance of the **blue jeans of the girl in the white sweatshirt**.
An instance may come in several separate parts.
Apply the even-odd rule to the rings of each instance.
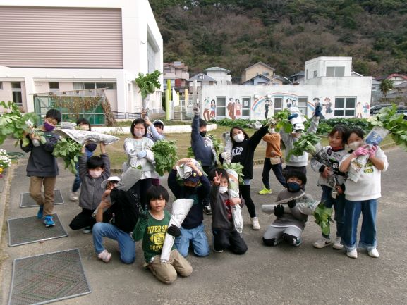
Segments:
[[[342,244],[348,251],[356,249],[356,232],[360,213],[362,213],[362,228],[360,229],[359,247],[365,248],[367,251],[376,247],[377,199],[346,200]]]

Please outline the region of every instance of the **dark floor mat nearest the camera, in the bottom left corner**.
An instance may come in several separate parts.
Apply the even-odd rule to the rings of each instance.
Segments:
[[[13,261],[9,305],[46,304],[90,292],[78,249]]]

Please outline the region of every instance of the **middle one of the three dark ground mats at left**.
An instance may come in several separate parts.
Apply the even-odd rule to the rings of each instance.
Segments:
[[[53,216],[55,225],[48,228],[37,216],[8,219],[8,246],[13,247],[68,236],[58,215]]]

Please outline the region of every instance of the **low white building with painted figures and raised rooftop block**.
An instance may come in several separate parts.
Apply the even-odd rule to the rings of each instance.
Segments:
[[[352,73],[351,57],[318,57],[305,62],[300,85],[204,85],[200,100],[207,97],[216,103],[217,119],[264,120],[290,106],[310,117],[316,101],[322,104],[324,118],[366,118],[371,89],[372,77]]]

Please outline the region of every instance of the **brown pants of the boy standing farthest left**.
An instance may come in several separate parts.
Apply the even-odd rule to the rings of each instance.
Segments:
[[[54,187],[56,177],[30,177],[30,196],[39,206],[44,206],[44,216],[54,211]],[[44,185],[44,197],[41,188]]]

